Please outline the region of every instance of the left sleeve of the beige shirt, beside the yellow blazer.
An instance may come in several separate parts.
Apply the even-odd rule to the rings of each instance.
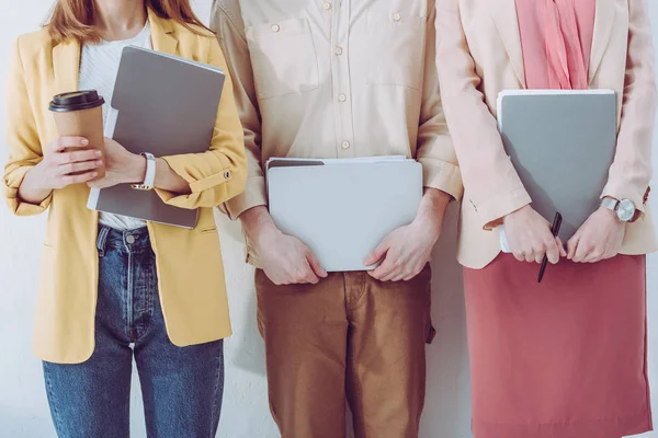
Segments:
[[[215,0],[211,19],[211,27],[217,33],[217,39],[226,54],[234,77],[234,92],[245,129],[245,148],[249,161],[245,192],[220,207],[232,220],[250,208],[268,205],[265,176],[261,165],[261,116],[245,24],[237,3]]]

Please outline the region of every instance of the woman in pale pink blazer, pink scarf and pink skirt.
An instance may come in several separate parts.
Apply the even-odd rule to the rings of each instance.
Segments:
[[[438,69],[465,193],[476,438],[620,438],[651,428],[646,256],[656,113],[647,0],[440,0]],[[602,206],[568,242],[533,208],[497,130],[509,89],[611,89]],[[500,253],[506,226],[513,254]],[[544,255],[555,264],[536,276]]]

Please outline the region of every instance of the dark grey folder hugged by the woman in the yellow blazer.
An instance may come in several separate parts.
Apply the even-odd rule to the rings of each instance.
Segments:
[[[156,157],[208,150],[225,76],[189,59],[126,47],[123,50],[105,137],[134,153]],[[155,192],[129,185],[92,189],[90,209],[183,228],[197,211],[168,206]]]

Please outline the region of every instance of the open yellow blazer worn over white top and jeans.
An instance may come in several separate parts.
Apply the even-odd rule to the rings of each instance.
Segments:
[[[195,35],[152,11],[148,20],[156,50],[228,71],[212,34]],[[54,191],[41,205],[21,200],[18,188],[25,173],[42,160],[42,147],[58,137],[48,102],[54,94],[78,89],[79,65],[77,42],[54,46],[46,30],[24,35],[15,45],[7,94],[10,158],[2,193],[19,216],[41,214],[49,207],[34,351],[43,360],[59,364],[83,362],[94,349],[98,212],[86,207],[87,185]],[[231,333],[212,208],[245,189],[247,159],[230,78],[224,88],[208,151],[163,157],[175,173],[190,182],[192,194],[158,194],[177,207],[200,207],[196,228],[148,223],[162,312],[169,338],[178,346],[220,339]]]

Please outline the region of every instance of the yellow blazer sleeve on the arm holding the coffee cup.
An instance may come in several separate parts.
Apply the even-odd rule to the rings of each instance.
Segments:
[[[19,187],[25,174],[43,160],[36,120],[25,82],[25,69],[21,57],[21,38],[16,41],[13,47],[5,95],[9,160],[2,176],[2,195],[14,215],[38,215],[50,205],[52,193],[39,205],[26,203],[19,197]]]

